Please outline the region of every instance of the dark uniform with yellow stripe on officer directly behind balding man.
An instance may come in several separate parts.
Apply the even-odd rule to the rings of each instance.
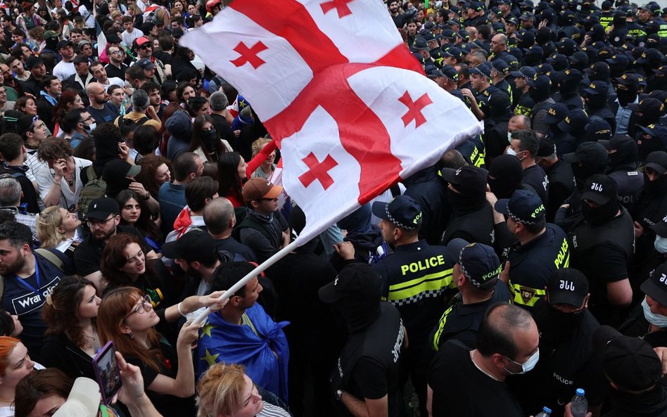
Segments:
[[[493,295],[486,301],[464,304],[460,293],[457,294],[428,336],[430,348],[437,351],[447,340],[459,340],[469,349],[475,349],[477,332],[486,309],[496,302],[509,301],[507,284],[502,281],[496,283]]]

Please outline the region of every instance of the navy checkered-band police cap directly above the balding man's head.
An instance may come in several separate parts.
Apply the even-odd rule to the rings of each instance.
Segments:
[[[459,267],[476,288],[488,290],[500,278],[502,265],[495,250],[483,243],[471,243],[459,253]]]

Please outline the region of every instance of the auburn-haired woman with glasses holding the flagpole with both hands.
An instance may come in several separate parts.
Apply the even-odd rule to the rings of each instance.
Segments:
[[[164,417],[194,416],[194,368],[191,345],[200,326],[187,321],[174,345],[165,342],[155,326],[160,316],[167,321],[180,319],[196,309],[220,309],[221,292],[205,297],[188,297],[158,314],[151,298],[136,288],[116,288],[100,304],[97,326],[100,342],[113,341],[128,363],[139,366],[148,398]]]

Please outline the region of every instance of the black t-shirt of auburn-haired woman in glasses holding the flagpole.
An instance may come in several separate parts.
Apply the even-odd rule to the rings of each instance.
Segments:
[[[160,351],[162,352],[162,357],[155,358],[160,368],[159,372],[138,358],[127,355],[126,359],[129,364],[138,366],[141,369],[141,376],[144,376],[146,394],[160,414],[164,417],[194,416],[194,396],[180,398],[169,394],[158,394],[148,389],[148,386],[153,383],[158,375],[176,379],[178,373],[178,354],[176,349],[165,342],[160,342]]]

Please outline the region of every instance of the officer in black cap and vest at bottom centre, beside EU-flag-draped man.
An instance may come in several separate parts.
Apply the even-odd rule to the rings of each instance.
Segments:
[[[369,265],[355,262],[319,289],[319,298],[333,304],[348,326],[348,340],[331,373],[346,416],[360,407],[369,415],[382,410],[389,417],[402,415],[400,365],[407,337],[398,310],[380,302],[380,286]]]

